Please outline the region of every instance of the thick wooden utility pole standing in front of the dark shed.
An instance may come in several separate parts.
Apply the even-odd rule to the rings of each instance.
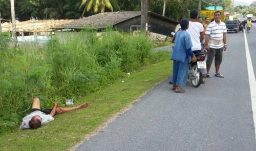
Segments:
[[[146,30],[147,13],[148,13],[147,6],[148,6],[148,0],[141,0],[141,19],[140,19],[141,31]]]

